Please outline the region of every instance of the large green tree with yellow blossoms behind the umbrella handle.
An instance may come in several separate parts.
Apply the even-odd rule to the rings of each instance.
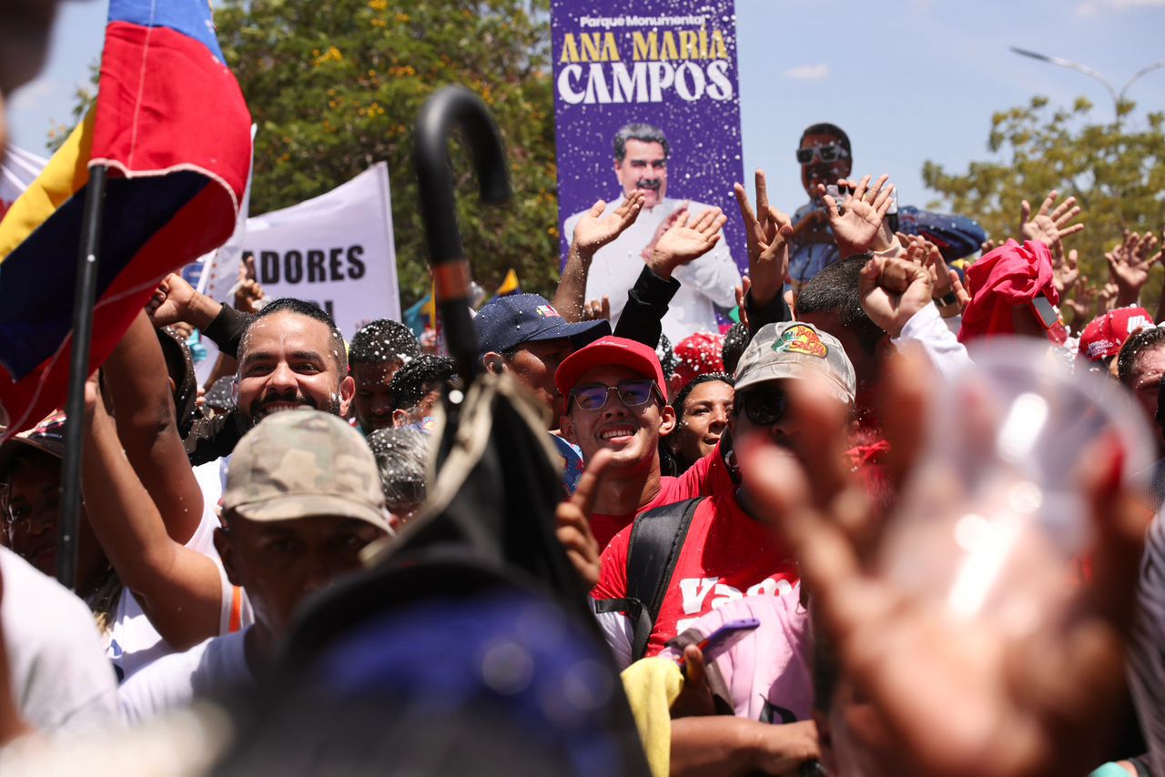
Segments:
[[[425,98],[463,84],[489,106],[510,161],[513,202],[478,202],[458,143],[458,217],[478,281],[513,267],[552,292],[558,232],[546,0],[228,0],[219,42],[259,134],[252,213],[287,207],[387,161],[402,303],[429,290],[412,172],[412,126]],[[213,110],[209,106],[210,110]]]

